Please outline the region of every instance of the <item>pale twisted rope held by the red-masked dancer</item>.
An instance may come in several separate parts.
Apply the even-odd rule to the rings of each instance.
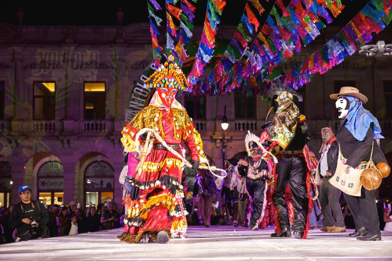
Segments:
[[[169,150],[172,154],[174,154],[176,157],[178,157],[179,159],[181,159],[181,161],[189,168],[192,168],[192,164],[189,163],[189,161],[187,161],[182,155],[180,155],[180,153],[178,153],[176,150],[172,149],[171,147],[169,147],[169,145],[167,145],[166,141],[163,140],[163,138],[158,134],[158,132],[156,132],[153,129],[149,129],[149,128],[143,128],[141,130],[139,130],[139,132],[136,134],[135,140],[138,141],[140,135],[144,134],[145,132],[151,132],[152,134],[154,134],[154,138],[150,139],[149,142],[149,146],[148,146],[148,150],[147,150],[147,154],[148,155],[151,152],[151,148],[152,145],[154,144],[154,139],[156,138],[156,140],[158,140],[159,143],[162,143],[163,147],[165,147],[165,149]],[[140,146],[138,146],[138,144],[136,144],[136,152],[137,153],[142,153],[140,151]],[[212,175],[216,176],[217,178],[225,178],[227,176],[227,172],[224,169],[219,169],[216,166],[210,166],[208,159],[200,157],[200,163],[205,163],[207,164],[207,166],[199,166],[199,169],[207,169],[209,170],[209,172],[211,172]],[[213,171],[220,171],[220,172],[224,172],[225,176],[219,176],[216,175]]]

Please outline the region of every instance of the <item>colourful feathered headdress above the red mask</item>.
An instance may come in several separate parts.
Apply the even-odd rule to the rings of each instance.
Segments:
[[[191,92],[187,83],[187,78],[181,68],[174,62],[174,56],[169,55],[167,61],[161,64],[158,69],[151,74],[150,78],[144,81],[145,88],[170,87],[181,91]]]

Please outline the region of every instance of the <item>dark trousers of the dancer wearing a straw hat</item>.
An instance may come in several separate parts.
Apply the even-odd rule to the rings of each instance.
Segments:
[[[381,235],[374,191],[362,187],[360,197],[343,194],[354,217],[355,228],[365,227],[369,234]]]

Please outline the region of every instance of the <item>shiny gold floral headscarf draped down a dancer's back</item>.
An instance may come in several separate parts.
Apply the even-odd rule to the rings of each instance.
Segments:
[[[278,143],[283,150],[294,138],[297,128],[299,110],[292,100],[293,96],[290,92],[284,91],[279,94],[276,98],[278,109],[272,118],[269,130],[272,134],[270,141]]]

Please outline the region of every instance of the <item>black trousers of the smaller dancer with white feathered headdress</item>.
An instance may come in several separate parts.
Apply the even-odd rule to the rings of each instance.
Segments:
[[[246,188],[252,202],[252,215],[250,216],[249,227],[252,228],[256,225],[256,221],[260,219],[261,212],[263,212],[265,179],[249,179],[246,180]]]

